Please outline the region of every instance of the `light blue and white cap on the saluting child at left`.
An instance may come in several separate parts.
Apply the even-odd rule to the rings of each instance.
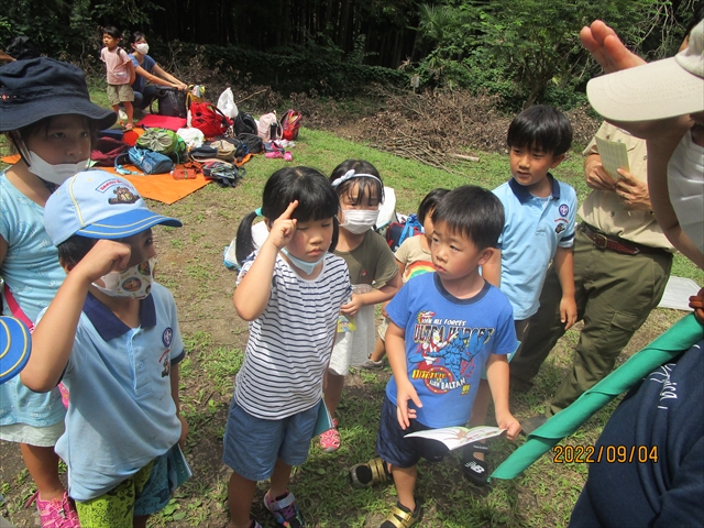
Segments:
[[[183,226],[175,218],[150,211],[130,182],[105,170],[84,170],[68,178],[44,207],[44,228],[54,245],[74,234],[124,239],[157,223]]]

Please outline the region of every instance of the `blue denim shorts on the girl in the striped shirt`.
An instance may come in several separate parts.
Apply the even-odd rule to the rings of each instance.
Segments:
[[[264,420],[241,408],[232,398],[223,439],[222,461],[250,481],[274,473],[276,460],[300,465],[308,458],[318,405],[288,418]]]

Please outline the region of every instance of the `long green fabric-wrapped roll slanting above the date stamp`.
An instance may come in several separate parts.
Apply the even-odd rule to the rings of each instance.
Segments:
[[[616,396],[625,393],[658,366],[691,349],[702,339],[704,339],[704,326],[694,318],[693,314],[689,314],[582,394],[572,405],[528,435],[526,442],[496,468],[490,480],[516,477],[560,440],[576,431],[582,424]]]

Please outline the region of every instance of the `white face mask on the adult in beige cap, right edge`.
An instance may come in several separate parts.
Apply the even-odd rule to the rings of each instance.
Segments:
[[[684,234],[704,252],[704,147],[688,131],[668,163],[670,201]]]

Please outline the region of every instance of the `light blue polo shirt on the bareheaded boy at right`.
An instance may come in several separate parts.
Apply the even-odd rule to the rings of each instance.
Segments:
[[[546,272],[558,248],[572,248],[576,219],[574,189],[548,174],[552,194],[531,195],[514,178],[496,187],[506,223],[498,239],[502,250],[502,287],[517,321],[528,319],[540,306]]]

